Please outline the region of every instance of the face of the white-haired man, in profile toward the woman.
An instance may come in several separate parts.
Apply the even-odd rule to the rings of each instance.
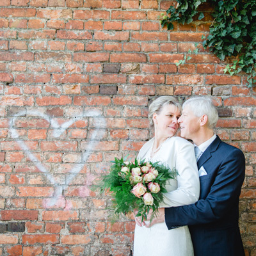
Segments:
[[[200,129],[200,118],[195,116],[189,109],[189,106],[185,106],[182,110],[178,122],[180,124],[180,136],[186,139],[194,140],[198,136]]]

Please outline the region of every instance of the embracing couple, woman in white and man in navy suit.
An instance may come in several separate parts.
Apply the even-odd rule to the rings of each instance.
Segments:
[[[214,134],[218,112],[211,99],[189,99],[182,109],[163,96],[149,112],[155,136],[138,157],[175,167],[179,175],[169,180],[157,218],[141,223],[135,217],[134,256],[243,256],[238,205],[244,155]],[[179,127],[193,143],[175,137]]]

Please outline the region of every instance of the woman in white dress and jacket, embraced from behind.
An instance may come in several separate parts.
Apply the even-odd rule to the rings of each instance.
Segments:
[[[194,147],[188,141],[176,137],[181,106],[174,97],[162,96],[149,106],[150,123],[154,125],[155,136],[141,148],[138,158],[146,161],[160,161],[176,168],[176,179],[168,180],[167,193],[160,207],[193,204],[198,200],[200,183],[196,166]],[[134,256],[193,256],[193,245],[188,226],[168,230],[165,223],[151,228],[141,226],[136,220],[134,233]]]

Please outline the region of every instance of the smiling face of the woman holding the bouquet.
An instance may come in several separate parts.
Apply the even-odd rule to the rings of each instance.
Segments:
[[[154,113],[153,120],[157,134],[164,138],[172,137],[179,128],[180,111],[172,104],[163,107],[159,114]]]

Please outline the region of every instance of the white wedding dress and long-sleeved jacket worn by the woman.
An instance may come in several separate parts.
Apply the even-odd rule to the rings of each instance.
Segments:
[[[154,138],[140,150],[139,159],[146,159],[176,168],[179,175],[168,180],[164,193],[164,202],[160,207],[172,207],[193,204],[198,200],[200,183],[195,161],[194,147],[188,141],[179,138],[168,138],[160,150],[150,159]],[[193,256],[193,245],[188,226],[168,230],[165,223],[151,228],[136,225],[134,233],[134,256]]]

